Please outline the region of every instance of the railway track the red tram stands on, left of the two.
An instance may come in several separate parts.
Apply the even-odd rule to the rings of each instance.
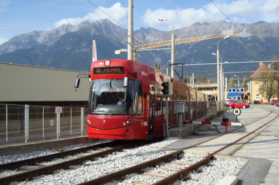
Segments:
[[[113,152],[119,152],[125,148],[135,147],[136,145],[141,145],[141,144],[149,144],[151,142],[158,141],[158,140],[160,140],[160,139],[154,139],[152,141],[148,140],[148,141],[133,141],[133,142],[116,140],[116,141],[96,144],[96,145],[92,145],[92,146],[88,146],[88,147],[83,147],[80,149],[74,149],[74,150],[70,150],[70,151],[46,155],[46,156],[42,156],[42,157],[35,157],[35,158],[27,159],[27,160],[6,163],[3,165],[0,165],[1,170],[19,169],[19,170],[23,170],[25,172],[2,177],[2,178],[0,178],[0,184],[3,184],[3,185],[10,184],[11,182],[26,180],[26,178],[32,179],[35,176],[39,176],[39,175],[43,175],[43,174],[51,174],[51,173],[53,173],[53,171],[61,169],[61,168],[69,169],[70,166],[82,164],[86,160],[94,160],[96,157],[104,157],[105,155],[112,154]],[[99,150],[99,152],[96,152],[96,153],[87,152],[88,150],[92,150],[94,148],[104,148],[104,147],[113,147],[113,148],[100,149],[101,151]],[[78,158],[67,158],[68,155],[73,155],[73,154],[77,154],[80,152],[86,152],[86,153],[92,153],[92,154],[80,155]],[[54,161],[55,163],[57,163],[54,165],[39,165],[38,164],[40,162],[51,161],[52,159],[55,159],[55,158],[64,158],[64,159],[68,159],[68,160],[60,162],[60,163],[57,163],[56,161]],[[18,168],[18,167],[21,167],[24,165],[33,165],[33,166],[39,167],[39,168],[37,168],[35,170]],[[84,165],[86,165],[86,164],[84,164]]]

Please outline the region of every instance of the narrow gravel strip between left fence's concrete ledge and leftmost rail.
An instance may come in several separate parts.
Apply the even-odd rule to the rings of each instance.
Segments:
[[[91,143],[75,144],[75,145],[66,146],[66,147],[63,147],[63,149],[64,149],[64,151],[68,151],[68,150],[78,149],[78,148],[82,148],[82,147],[87,147],[90,145],[105,143],[105,142],[109,142],[109,141],[112,141],[112,140],[102,139],[102,140],[98,140],[98,141],[91,142]],[[23,154],[16,154],[16,155],[2,155],[2,156],[0,156],[0,165],[4,164],[4,163],[11,163],[11,162],[30,159],[30,158],[34,158],[34,157],[50,155],[50,154],[54,154],[54,153],[58,153],[58,152],[59,151],[57,151],[57,150],[41,150],[41,151],[34,151],[31,153],[23,153]]]

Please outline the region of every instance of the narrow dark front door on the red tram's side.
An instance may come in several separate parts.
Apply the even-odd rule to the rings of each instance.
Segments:
[[[155,115],[155,87],[153,83],[149,83],[149,124],[148,135],[153,135]]]

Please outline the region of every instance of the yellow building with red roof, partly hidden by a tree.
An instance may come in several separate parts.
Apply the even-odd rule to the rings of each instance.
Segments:
[[[259,68],[250,74],[250,76],[248,77],[248,79],[250,79],[250,102],[253,103],[255,100],[258,100],[258,101],[263,101],[263,103],[266,103],[268,102],[267,99],[265,99],[263,96],[261,96],[261,94],[259,94],[259,87],[263,84],[256,84],[256,75],[258,75],[258,73],[256,73],[257,71],[263,71],[264,69],[267,68],[267,66],[263,63],[263,62],[260,62],[259,63]],[[268,67],[270,68],[270,64],[268,65]],[[273,97],[272,99],[277,99],[277,97]]]

